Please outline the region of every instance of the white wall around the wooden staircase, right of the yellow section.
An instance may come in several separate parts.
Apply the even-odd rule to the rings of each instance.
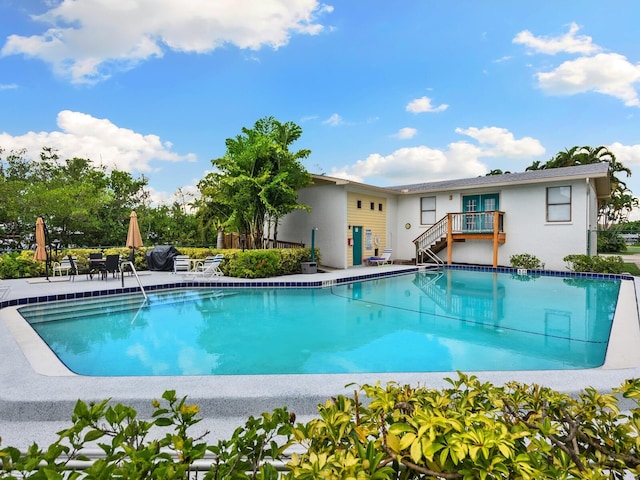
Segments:
[[[546,221],[546,188],[571,185],[571,221]],[[590,195],[587,196],[587,191]],[[447,213],[462,212],[463,195],[500,194],[500,211],[504,215],[506,242],[498,246],[498,265],[510,266],[510,257],[528,253],[535,255],[546,269],[565,270],[562,260],[572,253],[588,253],[587,231],[595,225],[595,195],[584,179],[500,187],[498,189],[465,190],[463,192],[402,195],[398,199],[397,229],[399,258],[415,258],[413,240],[430,225],[420,225],[420,198],[436,197],[436,219]],[[587,205],[589,203],[589,205]],[[595,204],[594,204],[595,205]],[[411,228],[405,229],[410,223]],[[595,248],[595,246],[593,246]],[[493,244],[490,240],[467,240],[453,245],[453,262],[491,265]],[[439,253],[446,260],[447,250]]]

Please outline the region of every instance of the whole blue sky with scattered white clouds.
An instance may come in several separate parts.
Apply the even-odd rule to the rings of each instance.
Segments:
[[[312,173],[388,186],[605,145],[640,193],[636,0],[0,0],[0,147],[171,200],[264,116]]]

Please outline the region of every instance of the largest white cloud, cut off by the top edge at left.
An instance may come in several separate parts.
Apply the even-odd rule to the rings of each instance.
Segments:
[[[162,56],[165,48],[277,49],[292,34],[321,32],[316,19],[332,10],[317,0],[62,0],[33,16],[49,26],[44,33],[10,35],[0,53],[39,58],[74,83],[94,83]]]

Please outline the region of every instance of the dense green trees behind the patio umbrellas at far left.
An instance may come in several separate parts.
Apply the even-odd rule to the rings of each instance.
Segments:
[[[61,160],[49,147],[33,160],[26,150],[12,151],[0,157],[3,243],[30,248],[35,219],[43,216],[50,240],[62,247],[122,244],[130,211],[141,201],[146,183],[144,177],[133,179],[119,170],[108,174],[89,159]]]

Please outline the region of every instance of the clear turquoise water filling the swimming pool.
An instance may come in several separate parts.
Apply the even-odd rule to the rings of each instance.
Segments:
[[[583,369],[619,280],[420,272],[322,289],[188,289],[20,308],[97,376]]]

